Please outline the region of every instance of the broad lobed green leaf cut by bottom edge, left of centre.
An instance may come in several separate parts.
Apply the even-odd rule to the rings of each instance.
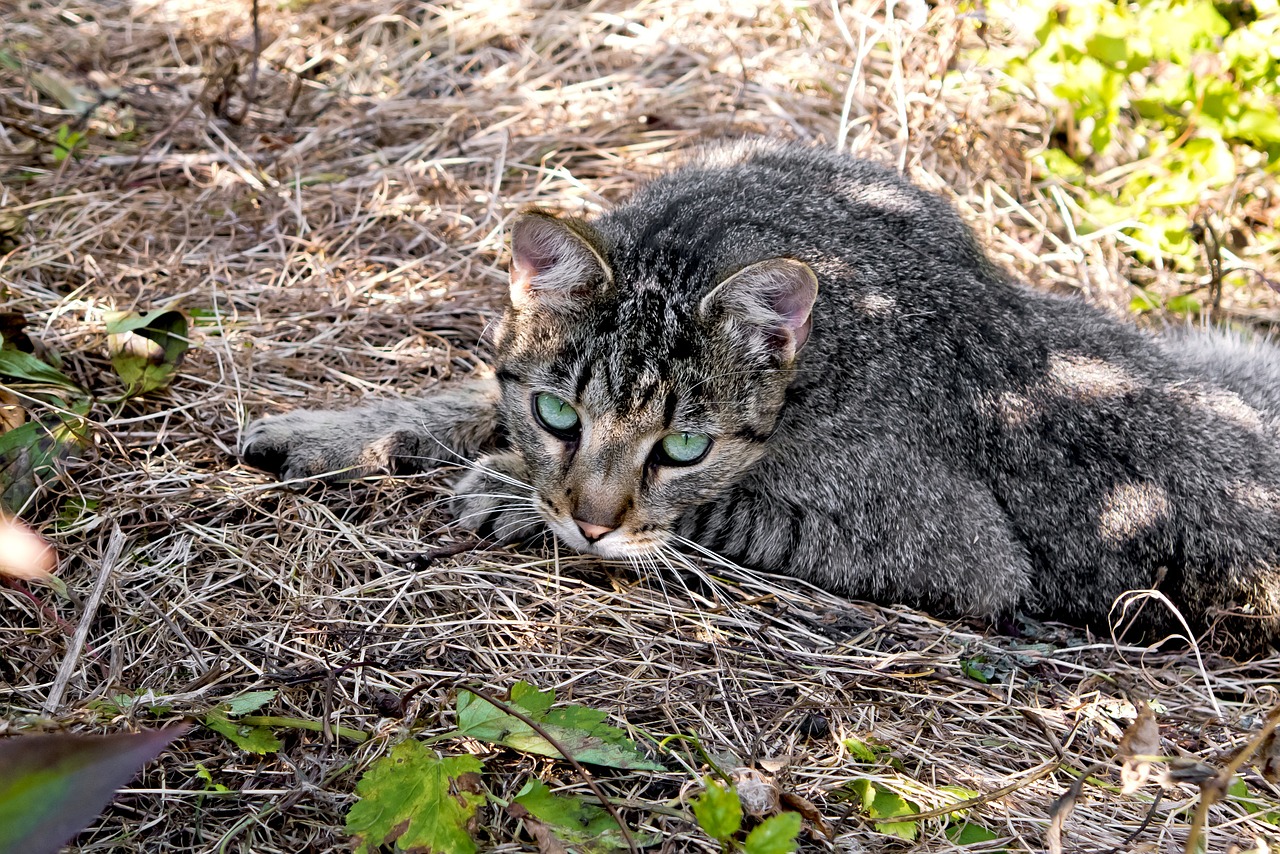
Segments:
[[[484,796],[470,791],[463,775],[479,775],[472,755],[439,757],[421,743],[401,741],[370,766],[347,813],[347,832],[356,854],[376,854],[383,845],[401,851],[472,854],[467,832]]]

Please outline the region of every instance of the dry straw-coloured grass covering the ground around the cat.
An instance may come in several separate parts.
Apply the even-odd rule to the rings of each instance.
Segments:
[[[1201,666],[1183,641],[1148,650],[1051,626],[1019,641],[781,577],[636,577],[550,544],[419,568],[399,558],[448,538],[447,472],[314,493],[237,463],[239,430],[260,414],[413,393],[483,364],[513,211],[594,210],[668,152],[723,133],[842,140],[951,193],[1019,273],[1124,305],[1128,277],[1162,274],[1135,271],[1114,234],[1075,236],[1057,191],[1032,181],[1047,111],[998,95],[998,70],[972,61],[982,38],[1005,37],[997,15],[979,33],[946,4],[913,29],[868,4],[837,19],[790,1],[282,0],[264,3],[255,64],[246,0],[3,9],[0,50],[18,65],[0,65],[0,206],[27,220],[0,257],[0,307],[26,312],[101,401],[92,449],[28,511],[81,599],[40,593],[59,625],[0,589],[4,720],[114,731],[274,688],[273,714],[374,736],[282,731],[282,752],[253,757],[196,729],[77,850],[340,846],[355,781],[388,741],[452,729],[460,681],[502,693],[526,679],[641,740],[691,735],[776,771],[835,828],[806,850],[904,848],[840,799],[859,777],[923,808],[945,803],[940,786],[993,793],[970,819],[1001,841],[973,850],[1043,850],[1050,804],[1092,773],[1060,816],[1066,850],[1179,851],[1197,803],[1185,784],[1124,844],[1156,791],[1117,789],[1133,702],[1158,704],[1166,753],[1215,766],[1280,703],[1280,659]],[[32,72],[104,102],[61,109]],[[56,161],[63,124],[88,136]],[[120,389],[104,311],[169,302],[202,310],[179,378],[108,402]],[[1228,309],[1275,320],[1277,306],[1258,289]],[[104,562],[113,536],[120,557]],[[88,626],[78,654],[76,625]],[[974,659],[996,684],[965,675]],[[410,717],[379,716],[379,693],[424,684]],[[867,764],[847,737],[890,752]],[[713,850],[687,814],[701,759],[676,746],[667,764],[602,776],[664,850]],[[201,767],[232,791],[206,793]],[[486,768],[500,798],[531,775],[586,791],[567,766],[511,752]],[[1247,780],[1277,807],[1274,785]],[[1238,802],[1210,818],[1212,851],[1276,844]],[[486,850],[532,848],[497,807],[479,832]],[[942,819],[913,849],[952,850]]]

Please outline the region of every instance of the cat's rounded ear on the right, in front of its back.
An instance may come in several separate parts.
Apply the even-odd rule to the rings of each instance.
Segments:
[[[771,259],[721,282],[699,306],[703,318],[746,335],[788,361],[809,338],[818,277],[803,261]]]

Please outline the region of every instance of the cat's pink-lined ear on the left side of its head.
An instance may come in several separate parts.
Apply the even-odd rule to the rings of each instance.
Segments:
[[[577,220],[530,211],[511,229],[511,305],[571,309],[611,280],[595,236]]]

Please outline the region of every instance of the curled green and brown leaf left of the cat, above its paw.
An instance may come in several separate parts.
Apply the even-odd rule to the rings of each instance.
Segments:
[[[168,385],[191,344],[187,316],[172,309],[145,315],[134,311],[108,312],[106,333],[111,367],[124,380],[128,396],[146,394]]]

